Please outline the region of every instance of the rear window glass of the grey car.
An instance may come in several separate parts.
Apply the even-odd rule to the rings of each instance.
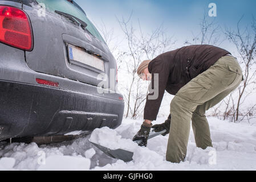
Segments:
[[[101,37],[100,33],[95,28],[94,24],[87,18],[84,11],[74,2],[71,0],[36,0],[38,3],[44,3],[46,5],[46,9],[50,11],[62,11],[63,13],[70,14],[72,16],[75,16],[76,18],[79,18],[86,22],[87,27],[86,29],[94,35],[97,39],[104,42],[104,39]]]

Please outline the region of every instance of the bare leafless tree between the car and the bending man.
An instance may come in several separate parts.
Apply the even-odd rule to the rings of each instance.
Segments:
[[[169,51],[174,42],[172,37],[166,35],[162,26],[148,33],[141,28],[138,20],[138,30],[136,30],[131,18],[132,14],[127,20],[124,18],[117,19],[127,45],[126,50],[119,51],[117,61],[121,65],[121,71],[127,75],[126,85],[123,88],[125,90],[124,100],[127,105],[125,117],[131,115],[131,118],[136,119],[142,113],[141,110],[147,97],[147,89],[145,88],[148,86],[137,76],[137,68],[141,61],[152,60],[157,55]]]

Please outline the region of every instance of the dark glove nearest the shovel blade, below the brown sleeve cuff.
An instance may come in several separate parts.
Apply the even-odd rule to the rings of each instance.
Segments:
[[[137,132],[137,134],[132,138],[133,141],[135,140],[142,140],[141,143],[139,143],[139,146],[145,146],[147,147],[148,144],[148,135],[150,133],[151,130],[151,125],[149,125],[148,123],[146,123],[145,121],[143,122],[143,124],[140,127],[140,130]]]

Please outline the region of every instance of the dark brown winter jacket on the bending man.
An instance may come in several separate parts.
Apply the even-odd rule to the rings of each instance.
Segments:
[[[154,92],[148,94],[144,119],[156,120],[165,90],[175,95],[182,86],[229,53],[215,46],[194,45],[162,53],[153,59],[148,65],[148,71],[152,73],[150,86],[153,89],[154,73],[159,73],[159,96],[156,100],[149,100],[148,96]]]

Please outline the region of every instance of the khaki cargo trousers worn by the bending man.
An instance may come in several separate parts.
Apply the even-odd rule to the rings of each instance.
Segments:
[[[178,91],[170,104],[172,119],[166,160],[180,163],[185,159],[191,120],[196,146],[212,147],[205,111],[229,95],[241,80],[237,59],[224,56]]]

